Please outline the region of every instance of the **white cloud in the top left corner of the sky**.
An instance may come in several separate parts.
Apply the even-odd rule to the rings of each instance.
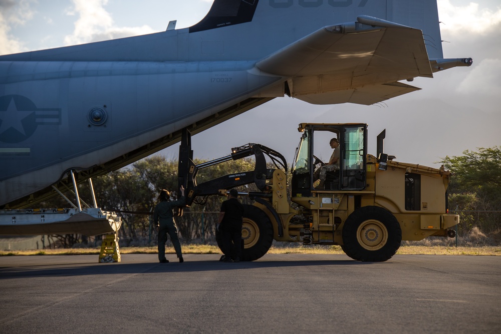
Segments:
[[[25,51],[23,43],[10,34],[13,26],[24,25],[34,15],[36,0],[0,1],[0,55]]]

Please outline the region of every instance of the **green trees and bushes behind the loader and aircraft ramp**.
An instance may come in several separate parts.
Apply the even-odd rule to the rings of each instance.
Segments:
[[[479,148],[477,151],[464,151],[461,156],[446,156],[440,163],[452,172],[448,188],[449,210],[463,212],[461,225],[470,229],[473,226],[486,224],[478,221],[473,211],[496,211],[501,207],[501,148]],[[199,165],[205,161],[195,160]],[[177,160],[167,160],[163,156],[151,156],[137,161],[120,170],[93,179],[98,206],[109,211],[118,211],[122,218],[119,237],[122,244],[134,240],[152,240],[156,244],[156,234],[150,229],[149,214],[157,203],[157,196],[162,189],[170,191],[172,199],[178,196]],[[222,175],[254,170],[254,160],[250,158],[228,161],[204,168],[197,175],[197,182],[212,180]],[[254,185],[240,187],[239,191],[256,191]],[[82,198],[90,196],[88,187],[82,184],[79,188]],[[89,198],[89,197],[87,197]],[[209,196],[200,200],[201,204],[193,204],[184,209],[180,217],[176,217],[180,237],[184,241],[211,240],[215,237],[215,224],[221,202],[221,196]],[[243,201],[250,203],[247,198]],[[57,198],[46,203],[44,207],[65,207],[68,204]],[[497,226],[501,218],[496,215]],[[78,242],[86,242],[85,236],[57,236],[65,247]]]

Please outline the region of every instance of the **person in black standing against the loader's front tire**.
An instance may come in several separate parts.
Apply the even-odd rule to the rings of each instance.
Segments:
[[[240,261],[242,243],[243,205],[238,202],[238,191],[231,189],[222,202],[216,228],[221,233],[224,262]]]

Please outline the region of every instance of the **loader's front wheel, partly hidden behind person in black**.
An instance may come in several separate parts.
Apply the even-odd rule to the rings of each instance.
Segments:
[[[254,261],[268,252],[273,242],[273,225],[270,218],[254,205],[243,205],[241,261]],[[223,251],[221,234],[216,231],[216,242]]]

